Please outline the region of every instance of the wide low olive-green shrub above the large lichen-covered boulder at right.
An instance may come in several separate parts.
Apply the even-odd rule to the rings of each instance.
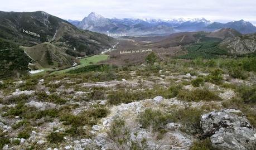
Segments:
[[[221,98],[207,89],[196,89],[192,91],[180,90],[178,93],[178,99],[185,101],[212,101],[221,100]]]

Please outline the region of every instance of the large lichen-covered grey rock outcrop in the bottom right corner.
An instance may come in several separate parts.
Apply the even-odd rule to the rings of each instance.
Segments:
[[[256,149],[256,134],[248,119],[239,111],[224,109],[202,115],[203,135],[218,149]]]

